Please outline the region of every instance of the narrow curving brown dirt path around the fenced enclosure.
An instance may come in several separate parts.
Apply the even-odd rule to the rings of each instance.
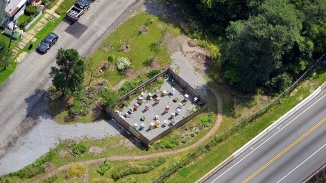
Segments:
[[[191,146],[188,146],[187,148],[182,148],[182,149],[178,149],[178,150],[171,150],[171,151],[166,151],[166,152],[162,152],[162,153],[153,153],[150,155],[137,155],[137,156],[111,156],[108,157],[106,159],[108,159],[109,161],[121,161],[121,160],[137,160],[137,159],[149,159],[149,158],[153,158],[153,157],[162,157],[162,156],[166,156],[166,155],[175,155],[178,153],[183,153],[185,151],[189,151],[189,150],[193,150],[194,148],[197,148],[198,146],[202,145],[209,137],[212,137],[213,134],[215,134],[215,132],[218,130],[219,126],[221,125],[222,122],[222,115],[223,115],[223,110],[222,110],[222,99],[221,96],[219,96],[219,94],[216,92],[216,90],[214,88],[209,88],[209,90],[214,94],[216,101],[217,101],[217,119],[215,121],[215,124],[213,126],[213,128],[211,130],[209,130],[209,132],[207,132],[207,134],[205,134],[205,136],[201,139],[199,139],[198,141],[196,141],[196,143],[192,144]],[[100,164],[102,162],[104,162],[105,158],[100,158],[100,159],[91,159],[91,160],[87,160],[85,162],[74,162],[71,164],[81,164],[83,166],[89,166],[90,164]],[[60,173],[61,171],[65,171],[67,170],[67,168],[69,168],[69,166],[71,166],[71,164],[66,164],[64,166],[60,166],[59,168],[56,168],[53,171],[50,171],[49,173],[46,173],[40,177],[37,177],[35,180],[33,180],[33,182],[40,182],[40,180],[43,180],[47,177],[51,177],[52,175],[55,175],[57,173]],[[88,173],[87,173],[88,175]],[[85,176],[88,177],[88,176]],[[83,182],[85,182],[86,180],[83,179]]]

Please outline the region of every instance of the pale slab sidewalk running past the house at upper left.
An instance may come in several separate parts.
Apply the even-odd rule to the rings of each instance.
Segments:
[[[51,9],[46,9],[44,12],[44,15],[37,21],[36,24],[32,28],[30,28],[27,32],[23,33],[22,40],[17,44],[17,46],[12,49],[14,54],[19,53],[20,50],[24,49],[24,47],[29,43],[29,42],[36,42],[37,39],[35,38],[35,34],[40,31],[46,23],[48,23],[51,20],[51,17],[57,19],[60,17],[60,15],[55,13],[55,10],[59,8],[60,4],[62,3],[63,0],[57,1],[55,5]],[[34,45],[35,47],[36,45]],[[16,62],[22,62],[24,58],[28,55],[26,51],[23,51],[20,53],[17,57]]]

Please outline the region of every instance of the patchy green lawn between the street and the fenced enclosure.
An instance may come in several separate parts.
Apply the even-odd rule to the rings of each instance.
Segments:
[[[153,23],[148,25],[149,33],[139,34],[139,29],[145,25],[148,19],[153,19]],[[167,52],[166,44],[162,46],[162,50],[157,54],[150,49],[151,44],[160,40],[160,31],[164,27],[168,28],[168,33],[178,32],[175,30],[177,28],[173,28],[173,26],[160,21],[158,17],[154,17],[153,15],[148,15],[146,13],[135,15],[123,22],[117,30],[114,30],[112,35],[103,42],[101,48],[90,55],[87,62],[92,65],[92,70],[97,72],[98,78],[108,80],[111,85],[116,85],[120,80],[126,78],[126,75],[119,73],[115,68],[115,61],[117,61],[118,57],[129,58],[132,63],[132,71],[138,71],[146,67],[144,62],[146,62],[150,56],[157,56],[157,64],[162,66],[164,66],[164,64],[170,64],[171,58]],[[130,46],[130,51],[122,51],[121,46],[123,45]],[[108,63],[109,55],[114,55],[115,58],[114,62],[110,63],[111,69],[108,69],[104,73],[98,73],[103,64]],[[88,78],[89,76],[85,79],[85,82],[89,80]]]

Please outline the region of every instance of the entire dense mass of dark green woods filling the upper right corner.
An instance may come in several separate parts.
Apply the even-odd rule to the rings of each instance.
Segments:
[[[326,51],[325,0],[170,1],[192,37],[222,40],[222,75],[242,92],[277,94]]]

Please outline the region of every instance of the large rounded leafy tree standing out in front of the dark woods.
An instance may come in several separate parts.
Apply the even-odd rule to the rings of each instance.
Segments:
[[[301,28],[295,7],[288,1],[259,3],[257,15],[231,22],[226,30],[224,77],[243,92],[266,87],[267,80],[284,73],[282,57],[293,49]]]

